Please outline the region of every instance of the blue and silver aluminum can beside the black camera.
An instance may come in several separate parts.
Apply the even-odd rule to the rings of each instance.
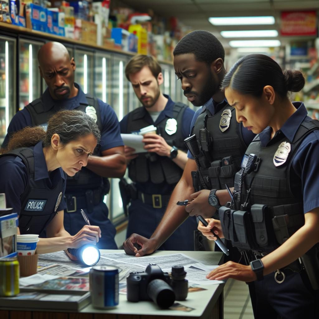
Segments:
[[[111,265],[93,266],[90,292],[95,308],[114,308],[119,304],[119,269]]]

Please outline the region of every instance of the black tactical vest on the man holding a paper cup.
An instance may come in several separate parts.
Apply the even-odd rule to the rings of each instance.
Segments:
[[[165,117],[157,124],[157,133],[160,134],[168,145],[176,146],[178,149],[187,152],[182,133],[182,118],[187,106],[180,102],[173,107],[173,116],[177,122],[176,133],[169,135],[165,131],[166,122],[169,117]],[[149,126],[145,120],[148,114],[144,107],[140,107],[130,112],[128,115],[128,132],[138,131],[143,127]],[[132,159],[129,164],[129,177],[133,182],[152,182],[159,184],[177,183],[182,177],[183,170],[167,156],[159,156],[156,153],[140,153],[136,159]]]

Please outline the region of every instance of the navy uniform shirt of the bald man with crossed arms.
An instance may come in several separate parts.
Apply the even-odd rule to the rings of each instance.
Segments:
[[[78,89],[77,96],[65,100],[53,100],[47,88],[42,95],[43,103],[48,105],[58,104],[61,109],[67,110],[77,108],[80,103],[88,104],[85,98],[85,93],[82,91],[80,86],[77,83],[74,83],[74,85]],[[100,141],[101,151],[117,146],[123,146],[124,144],[120,133],[119,122],[113,108],[107,103],[104,103],[99,99],[97,100],[100,106],[101,123],[103,127]],[[24,108],[13,116],[8,127],[8,134],[3,142],[3,147],[8,144],[8,135],[10,135],[11,132],[16,132],[26,126],[32,126],[32,121],[30,113],[26,108]]]

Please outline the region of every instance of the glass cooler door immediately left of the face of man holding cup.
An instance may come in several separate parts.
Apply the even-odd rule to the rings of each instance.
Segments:
[[[129,81],[125,77],[124,69],[128,57],[121,55],[114,55],[112,58],[112,103],[115,113],[119,119],[122,120],[123,116],[128,113],[129,109]],[[110,219],[116,222],[116,219],[121,219],[123,215],[123,204],[119,190],[119,179],[111,179],[111,191],[108,202],[110,208]]]

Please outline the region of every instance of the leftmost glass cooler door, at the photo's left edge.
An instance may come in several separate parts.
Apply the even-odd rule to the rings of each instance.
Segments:
[[[16,41],[0,37],[0,146],[16,112]]]

